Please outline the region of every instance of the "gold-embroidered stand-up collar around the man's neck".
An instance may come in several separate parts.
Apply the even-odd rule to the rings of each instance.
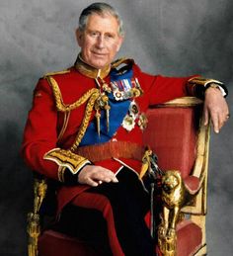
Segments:
[[[81,58],[80,54],[78,54],[74,66],[80,73],[91,78],[101,77],[103,79],[106,76],[108,76],[111,70],[111,65],[106,66],[103,69],[98,69],[93,66],[90,66]]]

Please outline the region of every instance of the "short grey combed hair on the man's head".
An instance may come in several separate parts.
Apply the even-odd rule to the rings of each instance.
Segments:
[[[103,16],[106,13],[109,13],[110,15],[116,18],[118,22],[118,34],[120,36],[123,36],[124,35],[123,22],[119,14],[117,13],[116,9],[113,6],[106,3],[93,3],[82,11],[79,17],[80,31],[83,32],[86,29],[89,16],[91,16],[92,14],[98,14]]]

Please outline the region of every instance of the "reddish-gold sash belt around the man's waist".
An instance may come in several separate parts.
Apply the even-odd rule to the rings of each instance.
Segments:
[[[127,141],[110,141],[102,144],[78,147],[75,152],[92,162],[105,159],[127,158],[141,161],[144,147]]]

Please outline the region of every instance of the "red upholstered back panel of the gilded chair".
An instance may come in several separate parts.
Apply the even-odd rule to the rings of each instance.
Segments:
[[[143,139],[157,154],[161,169],[180,170],[185,178],[194,167],[199,108],[178,107],[149,109]]]

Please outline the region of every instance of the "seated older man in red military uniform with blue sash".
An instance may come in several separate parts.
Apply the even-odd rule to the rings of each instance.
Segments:
[[[101,255],[155,255],[144,222],[149,194],[138,179],[144,113],[150,105],[195,95],[204,99],[205,124],[211,119],[219,132],[229,118],[227,90],[198,76],[149,75],[133,59],[113,62],[124,33],[108,4],[84,9],[76,36],[81,51],[74,66],[39,79],[24,158],[33,170],[59,182],[56,228],[96,240],[98,225]]]

